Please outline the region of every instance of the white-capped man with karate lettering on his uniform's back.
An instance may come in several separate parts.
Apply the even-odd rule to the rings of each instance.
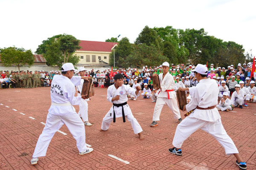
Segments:
[[[79,155],[90,153],[93,148],[89,148],[85,143],[85,129],[84,123],[76,113],[72,105],[79,105],[81,97],[84,95],[78,94],[75,97],[75,85],[80,85],[81,77],[74,76],[74,66],[72,63],[65,63],[61,67],[61,71],[66,74],[55,75],[51,84],[51,99],[52,105],[49,108],[46,125],[42,134],[38,138],[35,146],[35,151],[32,156],[31,164],[37,164],[38,157],[46,156],[47,148],[51,142],[55,132],[58,131],[62,125],[66,125],[72,136],[76,139],[76,146],[79,150]],[[86,81],[89,77],[82,77]]]

